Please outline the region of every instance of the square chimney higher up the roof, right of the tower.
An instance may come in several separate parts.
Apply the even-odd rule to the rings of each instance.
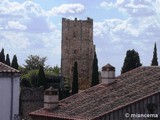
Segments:
[[[115,78],[115,67],[110,64],[107,64],[102,67],[101,72],[102,83],[110,84],[114,82]]]

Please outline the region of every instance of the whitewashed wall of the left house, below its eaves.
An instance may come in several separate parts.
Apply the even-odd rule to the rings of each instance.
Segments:
[[[19,114],[19,77],[13,78],[13,110]],[[10,120],[11,116],[11,77],[0,77],[0,120]]]

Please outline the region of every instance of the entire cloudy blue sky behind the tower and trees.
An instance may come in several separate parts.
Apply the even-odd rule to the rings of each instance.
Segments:
[[[107,63],[120,74],[127,50],[151,64],[154,43],[160,47],[160,0],[0,0],[0,49],[20,65],[29,55],[60,66],[61,19],[94,20],[99,70]]]

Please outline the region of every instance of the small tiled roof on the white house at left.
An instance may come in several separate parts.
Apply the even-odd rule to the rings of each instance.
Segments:
[[[19,73],[19,71],[0,62],[0,73]]]

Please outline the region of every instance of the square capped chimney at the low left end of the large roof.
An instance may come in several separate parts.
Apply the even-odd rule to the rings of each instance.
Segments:
[[[44,92],[44,109],[54,110],[58,107],[58,90],[53,87]]]

